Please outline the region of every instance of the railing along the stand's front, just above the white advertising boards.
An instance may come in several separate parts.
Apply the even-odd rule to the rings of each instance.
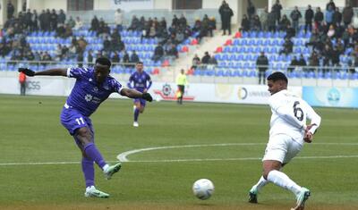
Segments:
[[[50,68],[68,68],[71,66],[93,65],[93,63],[73,63],[73,62],[41,62],[41,61],[7,61],[0,63],[2,75],[13,74],[20,67],[30,68],[33,71],[43,71]],[[129,75],[135,71],[135,63],[113,63],[111,74],[121,80],[128,80]],[[294,80],[294,85],[305,85],[309,81],[310,85],[319,86],[321,81],[325,85],[334,86],[335,82],[340,82],[343,87],[358,87],[358,68],[351,66],[247,66],[247,67],[218,67],[213,64],[198,65],[192,68],[191,65],[178,66],[145,66],[144,70],[149,72],[154,81],[175,82],[178,70],[187,71],[191,82],[199,83],[230,83],[230,84],[257,84],[259,76],[258,68],[263,67],[268,70],[267,77],[274,71],[285,72],[290,80]]]

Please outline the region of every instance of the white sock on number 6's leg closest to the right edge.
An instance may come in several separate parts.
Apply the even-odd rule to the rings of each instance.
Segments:
[[[271,181],[283,189],[292,191],[294,195],[298,195],[301,192],[301,187],[283,172],[278,172],[277,170],[268,172],[268,181]]]

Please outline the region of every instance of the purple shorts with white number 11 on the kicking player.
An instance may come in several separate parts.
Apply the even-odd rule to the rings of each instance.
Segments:
[[[60,119],[61,123],[64,125],[64,128],[66,128],[72,136],[76,130],[81,129],[82,127],[88,127],[94,134],[90,118],[83,116],[80,112],[73,108],[64,107],[60,115]]]

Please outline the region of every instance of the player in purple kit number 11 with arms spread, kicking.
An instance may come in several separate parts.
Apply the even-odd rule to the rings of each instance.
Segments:
[[[107,180],[121,168],[121,164],[108,165],[95,145],[94,130],[90,121],[90,114],[104,102],[111,93],[119,93],[130,98],[141,98],[152,101],[149,93],[141,93],[135,89],[123,88],[122,85],[109,75],[111,62],[100,57],[94,67],[50,69],[46,71],[31,71],[19,68],[20,72],[33,76],[64,76],[75,78],[76,82],[70,96],[67,98],[61,113],[61,122],[77,146],[81,149],[81,167],[86,181],[85,197],[107,198],[109,194],[95,188],[94,164],[103,170]]]

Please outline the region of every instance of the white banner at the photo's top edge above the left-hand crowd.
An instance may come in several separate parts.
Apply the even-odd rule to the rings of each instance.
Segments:
[[[111,8],[121,9],[125,12],[132,10],[150,10],[154,9],[154,0],[109,0]],[[138,14],[140,16],[140,14]]]

